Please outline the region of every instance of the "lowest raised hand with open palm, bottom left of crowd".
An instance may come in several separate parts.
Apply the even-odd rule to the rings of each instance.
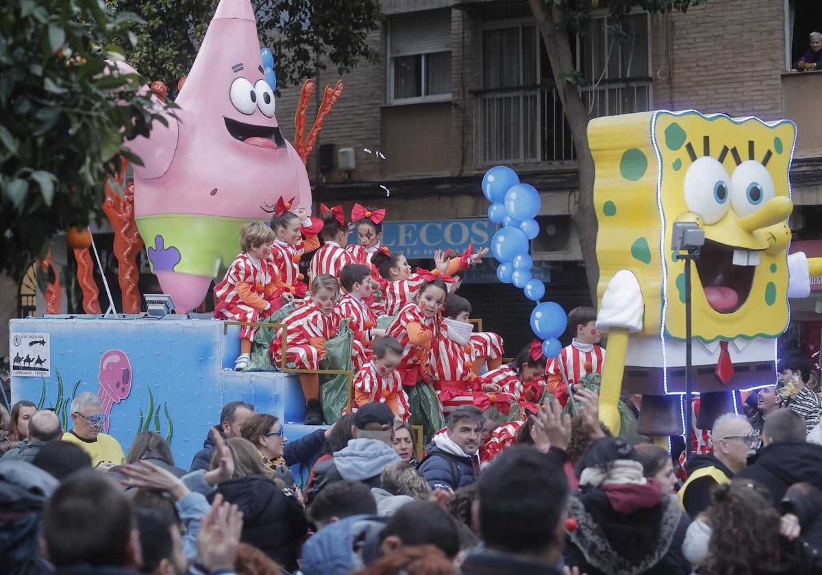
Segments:
[[[210,572],[234,568],[242,533],[242,512],[219,493],[197,531],[197,563]]]

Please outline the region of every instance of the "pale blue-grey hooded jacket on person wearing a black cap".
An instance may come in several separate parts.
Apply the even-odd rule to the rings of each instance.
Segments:
[[[400,462],[394,448],[380,439],[350,439],[343,449],[335,451],[334,458],[319,462],[306,499],[313,500],[321,490],[336,481],[361,481],[368,487],[379,487],[386,465]]]

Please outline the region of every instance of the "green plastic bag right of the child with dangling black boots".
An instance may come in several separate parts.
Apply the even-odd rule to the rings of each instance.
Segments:
[[[349,320],[339,322],[337,334],[326,341],[326,357],[320,361],[322,370],[353,370],[351,347],[354,334],[349,328]],[[351,388],[348,375],[320,374],[320,403],[326,423],[334,423],[348,407]]]

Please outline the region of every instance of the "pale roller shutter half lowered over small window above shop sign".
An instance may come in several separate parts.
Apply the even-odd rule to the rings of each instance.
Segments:
[[[391,57],[450,52],[450,10],[392,17],[389,26]]]

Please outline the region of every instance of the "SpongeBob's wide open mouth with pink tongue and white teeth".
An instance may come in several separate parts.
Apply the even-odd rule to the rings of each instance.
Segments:
[[[705,240],[696,273],[708,305],[721,314],[737,311],[748,299],[760,252]]]

